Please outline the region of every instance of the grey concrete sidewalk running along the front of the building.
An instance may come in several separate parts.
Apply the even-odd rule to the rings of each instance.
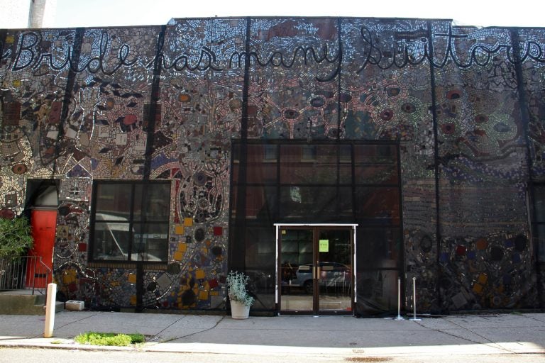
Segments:
[[[54,337],[40,315],[0,315],[0,347],[214,352],[233,354],[545,354],[545,314],[450,315],[419,321],[352,317],[63,311]],[[141,333],[139,347],[79,345],[89,331]]]

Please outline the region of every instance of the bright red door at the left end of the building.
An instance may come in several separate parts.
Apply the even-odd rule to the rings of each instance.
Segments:
[[[34,209],[31,214],[31,226],[34,246],[28,252],[28,255],[37,256],[38,258],[35,261],[32,259],[28,260],[26,286],[44,288],[51,282],[52,277],[57,211],[40,211]],[[42,263],[49,268],[49,271],[43,267]]]

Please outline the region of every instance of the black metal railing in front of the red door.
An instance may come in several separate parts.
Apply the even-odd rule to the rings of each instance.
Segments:
[[[53,272],[41,256],[0,258],[0,291],[32,290],[45,295]]]

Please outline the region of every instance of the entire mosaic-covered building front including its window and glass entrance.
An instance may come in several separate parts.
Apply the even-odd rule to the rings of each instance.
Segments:
[[[541,308],[544,82],[542,28],[0,30],[0,213],[53,190],[96,309],[224,311],[230,270],[255,313]]]

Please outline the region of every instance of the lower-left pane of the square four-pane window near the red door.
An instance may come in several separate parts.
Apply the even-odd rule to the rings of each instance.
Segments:
[[[94,225],[94,259],[128,259],[128,246],[131,238],[126,220],[97,222]]]

